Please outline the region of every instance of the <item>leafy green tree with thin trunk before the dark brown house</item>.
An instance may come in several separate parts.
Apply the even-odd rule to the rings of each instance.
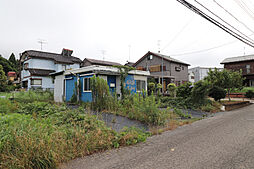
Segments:
[[[211,86],[218,86],[227,90],[228,98],[230,99],[230,92],[234,89],[241,89],[243,87],[242,70],[231,71],[224,69],[223,71],[209,71],[208,76],[205,78]]]

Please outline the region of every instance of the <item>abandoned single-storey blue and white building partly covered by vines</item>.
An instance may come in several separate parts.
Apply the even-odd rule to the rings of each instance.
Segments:
[[[131,70],[125,79],[125,88],[131,93],[147,90],[148,71]],[[65,72],[52,73],[55,77],[54,100],[56,102],[69,102],[74,94],[75,83],[80,82],[81,95],[80,100],[83,102],[92,101],[92,91],[90,87],[90,78],[97,76],[107,81],[110,92],[116,93],[121,97],[120,71],[112,66],[92,65]]]

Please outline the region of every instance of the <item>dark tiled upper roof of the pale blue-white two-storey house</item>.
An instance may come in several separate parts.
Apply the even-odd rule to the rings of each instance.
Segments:
[[[34,58],[41,58],[41,59],[50,59],[54,60],[58,63],[66,63],[66,64],[74,64],[74,63],[81,63],[82,61],[74,56],[66,56],[57,53],[50,53],[50,52],[43,52],[43,51],[35,51],[35,50],[27,50],[22,53],[22,56],[29,56]],[[21,58],[21,61],[24,61],[25,58]]]

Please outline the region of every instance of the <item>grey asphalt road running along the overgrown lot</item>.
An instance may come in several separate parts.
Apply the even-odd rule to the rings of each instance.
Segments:
[[[147,142],[80,158],[62,169],[254,169],[254,105],[220,113]]]

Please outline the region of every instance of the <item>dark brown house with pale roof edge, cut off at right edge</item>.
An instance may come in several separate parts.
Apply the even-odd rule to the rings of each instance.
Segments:
[[[254,55],[226,58],[221,64],[228,70],[242,70],[242,75],[245,78],[244,84],[254,86]]]

